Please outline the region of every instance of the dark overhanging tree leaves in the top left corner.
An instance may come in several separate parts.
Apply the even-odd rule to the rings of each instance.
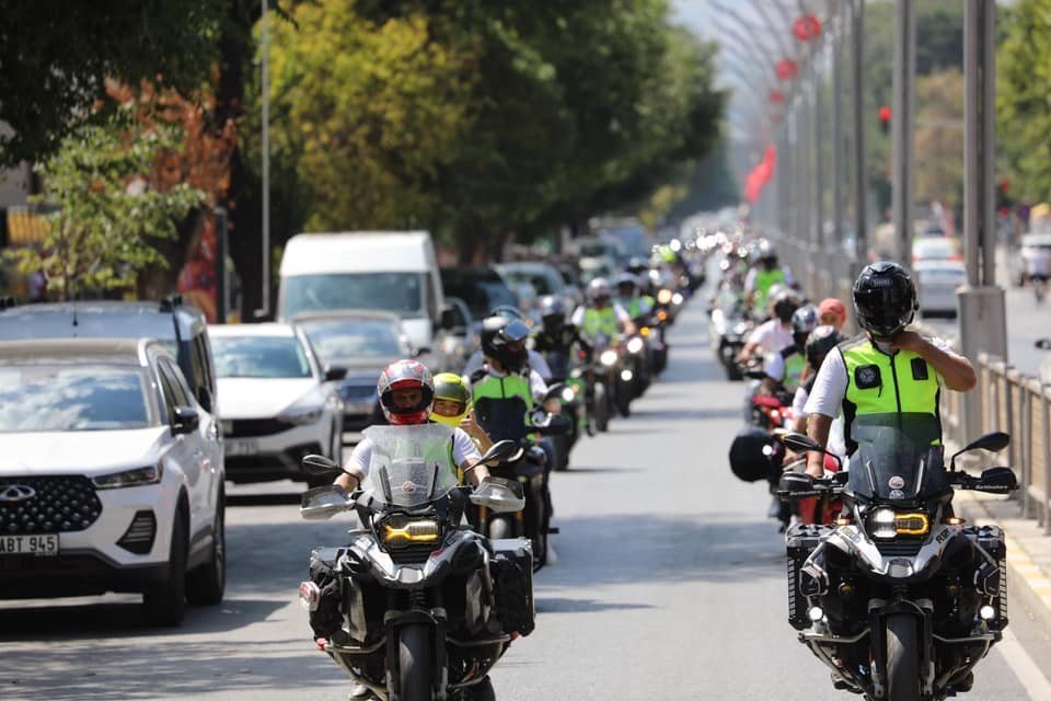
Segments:
[[[102,81],[164,77],[188,94],[208,77],[227,0],[0,2],[0,164],[53,153]]]

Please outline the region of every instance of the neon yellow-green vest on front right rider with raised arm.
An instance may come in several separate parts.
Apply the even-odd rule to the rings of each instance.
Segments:
[[[883,353],[862,334],[839,346],[846,367],[843,398],[846,452],[857,450],[851,439],[855,416],[920,413],[938,416],[938,374],[917,353]],[[940,440],[936,441],[940,443]]]

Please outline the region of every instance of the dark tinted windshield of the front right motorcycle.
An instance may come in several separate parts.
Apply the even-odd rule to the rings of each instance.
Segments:
[[[847,486],[877,501],[916,501],[949,487],[940,443],[942,426],[932,414],[870,414],[851,426],[857,451],[851,457]]]

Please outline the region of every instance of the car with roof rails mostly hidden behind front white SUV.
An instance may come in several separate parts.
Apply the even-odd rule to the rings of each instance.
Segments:
[[[181,295],[159,302],[77,301],[0,308],[0,341],[157,338],[175,356],[204,411],[216,414],[216,367],[205,314]]]

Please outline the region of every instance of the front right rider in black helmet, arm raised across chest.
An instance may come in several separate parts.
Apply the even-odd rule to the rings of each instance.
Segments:
[[[937,417],[940,388],[967,392],[977,383],[970,360],[949,350],[944,341],[908,329],[919,304],[912,277],[902,266],[888,261],[866,266],[854,283],[853,297],[863,333],[828,354],[805,406],[807,434],[822,447],[842,406],[848,456],[857,448],[850,438],[857,416]],[[824,473],[821,453],[807,453],[807,473]]]

